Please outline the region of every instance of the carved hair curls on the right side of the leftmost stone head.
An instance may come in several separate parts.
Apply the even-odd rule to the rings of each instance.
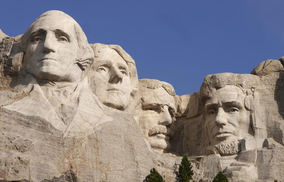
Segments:
[[[85,70],[93,63],[93,52],[89,47],[79,49],[77,52],[77,58],[74,64],[78,64],[81,69]]]

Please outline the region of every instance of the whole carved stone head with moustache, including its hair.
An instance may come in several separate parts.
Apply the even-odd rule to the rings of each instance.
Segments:
[[[175,113],[175,90],[169,83],[139,80],[141,111],[138,116],[143,137],[159,151],[170,150],[170,125]]]

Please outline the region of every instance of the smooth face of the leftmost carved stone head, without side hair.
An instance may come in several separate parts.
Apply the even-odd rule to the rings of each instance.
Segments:
[[[74,24],[58,15],[44,16],[30,28],[25,53],[27,73],[38,79],[75,82],[82,70],[74,64],[78,42]]]

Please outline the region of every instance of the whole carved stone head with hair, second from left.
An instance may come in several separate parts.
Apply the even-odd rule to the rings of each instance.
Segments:
[[[138,84],[134,60],[119,45],[91,46],[95,52],[89,78],[91,90],[104,105],[129,111]]]

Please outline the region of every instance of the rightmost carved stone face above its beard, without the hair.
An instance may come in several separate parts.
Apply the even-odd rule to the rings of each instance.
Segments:
[[[245,97],[239,87],[226,85],[206,101],[206,127],[212,145],[253,138],[249,111],[244,107]]]

